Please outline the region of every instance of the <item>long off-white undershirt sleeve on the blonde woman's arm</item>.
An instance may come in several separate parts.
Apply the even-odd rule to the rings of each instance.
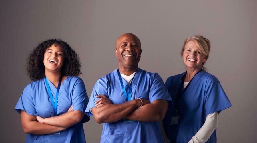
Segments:
[[[200,130],[198,130],[188,143],[206,142],[218,126],[218,115],[218,112],[209,114]]]

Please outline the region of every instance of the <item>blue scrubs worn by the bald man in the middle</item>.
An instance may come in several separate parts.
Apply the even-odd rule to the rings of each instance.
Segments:
[[[128,83],[123,78],[122,82],[128,93]],[[162,78],[157,73],[146,72],[139,68],[131,84],[131,100],[136,98],[148,99],[150,102],[158,99],[171,100]],[[114,104],[126,102],[117,70],[97,80],[85,110],[87,115],[93,116],[90,109],[95,107],[96,96],[100,94],[107,96]],[[108,112],[108,109],[106,109],[106,112]],[[134,143],[163,141],[158,122],[133,121],[124,123],[124,120],[121,119],[117,122],[103,123],[100,142]]]

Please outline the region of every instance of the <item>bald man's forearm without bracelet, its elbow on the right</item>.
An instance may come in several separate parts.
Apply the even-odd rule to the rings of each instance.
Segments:
[[[167,110],[168,101],[155,100],[153,103],[146,104],[142,107],[137,108],[124,118],[141,122],[158,122],[164,118]]]

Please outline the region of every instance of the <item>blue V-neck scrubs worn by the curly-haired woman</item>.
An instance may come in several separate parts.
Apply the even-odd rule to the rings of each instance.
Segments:
[[[53,99],[55,101],[57,89],[48,79],[47,81],[53,94]],[[76,76],[68,76],[67,78],[65,78],[59,90],[59,97],[57,102],[57,116],[66,113],[71,105],[73,105],[72,110],[79,110],[84,112],[87,103],[88,96],[82,79]],[[24,110],[29,115],[40,116],[42,118],[49,118],[54,116],[54,108],[48,95],[47,86],[44,78],[35,82],[31,82],[25,87],[15,107],[15,110],[17,110],[19,113],[21,112],[21,110]],[[85,115],[83,121],[89,121],[89,116]],[[83,123],[80,122],[73,126],[70,126],[69,128],[59,132],[59,134],[27,134],[26,142],[83,143],[86,142],[83,130]]]

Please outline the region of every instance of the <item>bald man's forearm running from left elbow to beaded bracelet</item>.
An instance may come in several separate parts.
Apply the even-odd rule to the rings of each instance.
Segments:
[[[116,122],[127,116],[141,105],[140,100],[131,100],[123,104],[105,104],[98,108],[92,108],[97,123]]]

